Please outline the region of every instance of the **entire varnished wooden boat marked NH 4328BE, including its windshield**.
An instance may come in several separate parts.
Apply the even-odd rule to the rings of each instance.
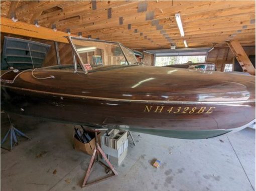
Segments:
[[[255,119],[254,76],[143,66],[119,43],[68,39],[72,65],[1,71],[4,110],[189,139],[239,130]],[[92,49],[101,52],[103,66],[88,64]]]

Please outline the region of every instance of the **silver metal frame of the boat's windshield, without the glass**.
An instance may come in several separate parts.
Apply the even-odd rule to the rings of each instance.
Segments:
[[[124,45],[121,44],[120,42],[114,42],[114,41],[108,41],[108,40],[99,40],[99,39],[92,39],[92,38],[85,38],[85,37],[77,37],[77,36],[65,36],[65,37],[68,39],[69,44],[71,45],[71,48],[72,48],[72,50],[73,50],[73,64],[74,64],[74,71],[75,71],[75,72],[78,72],[78,70],[77,70],[77,63],[76,63],[76,58],[78,58],[78,63],[79,63],[79,65],[81,66],[81,68],[83,69],[83,72],[84,72],[85,74],[88,73],[87,69],[84,67],[83,60],[82,60],[81,56],[79,55],[79,53],[78,53],[78,51],[77,51],[77,49],[76,49],[76,47],[75,47],[75,45],[74,45],[72,39],[117,44],[117,45],[120,47],[121,52],[122,52],[122,54],[123,54],[123,56],[124,56],[124,58],[125,58],[125,61],[127,62],[128,65],[130,65],[130,62],[129,62],[129,60],[127,59],[127,55],[124,53],[124,51],[123,51],[123,49],[122,49],[122,46],[125,47],[125,48],[127,48],[128,50],[130,50],[130,51],[133,53],[133,55],[134,55],[134,61],[137,60],[137,59],[136,59],[136,56],[135,56],[135,54],[134,54],[134,51],[131,50],[130,48],[124,46]],[[136,63],[136,62],[134,62],[134,63]],[[134,63],[133,63],[133,64],[134,64]]]

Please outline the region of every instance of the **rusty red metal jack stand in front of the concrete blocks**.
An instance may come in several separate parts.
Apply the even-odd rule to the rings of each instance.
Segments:
[[[91,156],[91,160],[90,160],[90,163],[89,163],[89,166],[88,166],[88,169],[86,171],[86,175],[84,177],[84,180],[83,180],[83,184],[82,184],[82,187],[85,187],[85,186],[88,186],[88,185],[91,185],[91,184],[94,184],[94,183],[97,183],[99,181],[102,181],[102,180],[106,180],[108,178],[111,178],[115,175],[117,175],[118,173],[115,171],[114,167],[112,166],[112,164],[109,162],[109,160],[107,159],[105,153],[103,152],[103,150],[101,149],[101,147],[99,146],[99,143],[98,143],[98,136],[97,136],[97,132],[100,132],[100,130],[105,130],[105,129],[91,129],[91,128],[85,128],[86,130],[88,131],[91,131],[91,132],[95,132],[95,139],[96,139],[96,146],[94,148],[94,151],[93,151],[93,154]],[[105,165],[104,163],[100,162],[99,161],[99,153],[101,153],[101,155],[103,156],[103,158],[105,159],[105,161],[107,162],[108,166]],[[95,180],[93,182],[90,182],[90,183],[87,183],[87,180],[89,178],[89,175],[92,171],[92,168],[95,164],[95,162],[98,162],[99,164],[101,164],[102,166],[104,167],[107,167],[109,170],[108,171],[112,171],[113,173],[111,173],[110,175],[108,175],[107,177],[103,177],[101,179],[98,179],[98,180]]]

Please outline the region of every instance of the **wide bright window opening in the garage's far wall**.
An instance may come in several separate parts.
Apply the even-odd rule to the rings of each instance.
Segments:
[[[180,64],[186,62],[205,62],[206,55],[184,55],[184,56],[156,56],[156,66]]]

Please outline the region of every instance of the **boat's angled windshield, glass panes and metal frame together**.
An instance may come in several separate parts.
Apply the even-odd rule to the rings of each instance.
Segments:
[[[137,62],[134,52],[118,42],[82,37],[69,37],[69,41],[77,54],[76,62],[85,70],[106,65],[131,65]]]

